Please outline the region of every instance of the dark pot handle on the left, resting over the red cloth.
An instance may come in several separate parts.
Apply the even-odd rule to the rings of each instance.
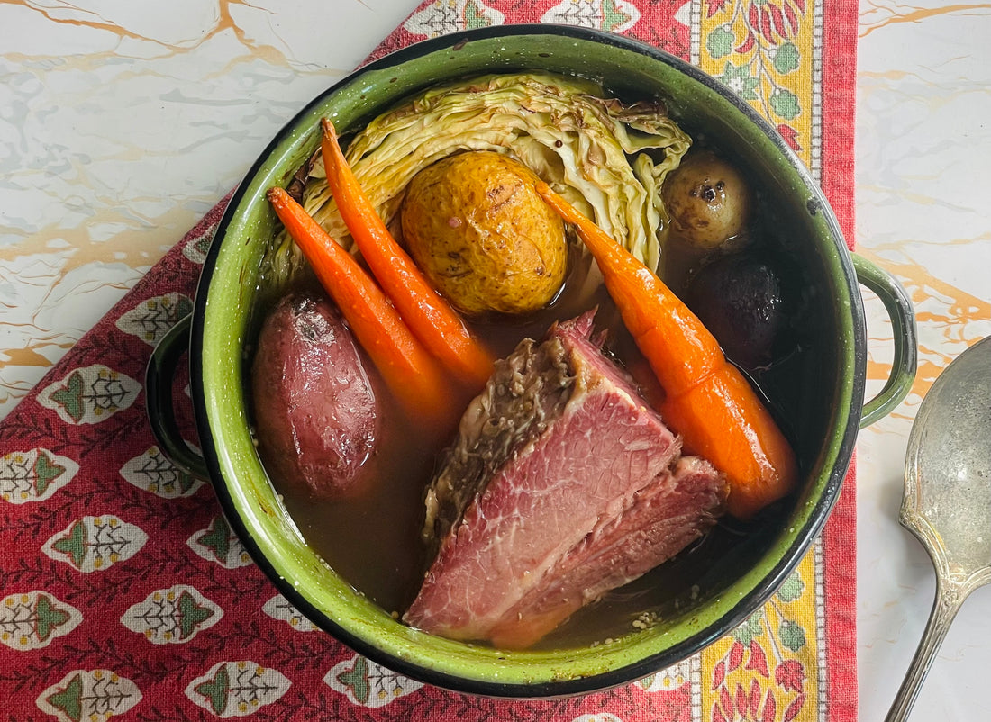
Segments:
[[[206,462],[189,448],[179,433],[172,405],[172,378],[182,353],[189,349],[191,326],[191,314],[179,319],[152,352],[145,370],[145,404],[152,433],[168,461],[188,474],[207,480]]]

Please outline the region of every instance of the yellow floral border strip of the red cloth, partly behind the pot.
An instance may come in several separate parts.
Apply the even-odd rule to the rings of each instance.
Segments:
[[[705,0],[693,3],[691,27],[693,63],[769,120],[818,178],[821,6]],[[817,542],[761,611],[703,651],[702,715],[714,721],[820,719],[822,705],[809,703],[825,698],[820,556]]]

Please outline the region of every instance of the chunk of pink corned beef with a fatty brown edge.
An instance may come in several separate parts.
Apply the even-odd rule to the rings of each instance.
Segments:
[[[725,482],[591,340],[586,314],[500,361],[427,494],[437,548],[404,619],[525,647],[714,523]]]

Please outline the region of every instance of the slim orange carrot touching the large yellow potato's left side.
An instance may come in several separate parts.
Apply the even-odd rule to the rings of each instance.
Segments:
[[[493,357],[392,238],[341,152],[334,124],[324,118],[321,125],[327,184],[358,250],[413,334],[445,366],[481,388],[492,375]]]

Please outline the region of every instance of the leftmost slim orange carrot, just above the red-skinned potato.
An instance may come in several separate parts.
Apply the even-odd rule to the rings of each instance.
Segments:
[[[430,424],[449,424],[456,410],[443,373],[382,289],[283,189],[269,189],[268,198],[406,412]]]

